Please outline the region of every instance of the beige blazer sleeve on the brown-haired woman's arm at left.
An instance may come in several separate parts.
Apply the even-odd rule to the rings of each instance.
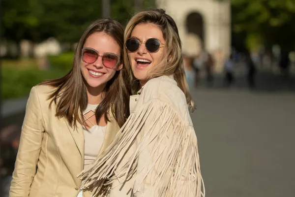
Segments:
[[[27,102],[9,197],[29,197],[44,134],[42,121],[40,100],[36,87],[33,87]]]

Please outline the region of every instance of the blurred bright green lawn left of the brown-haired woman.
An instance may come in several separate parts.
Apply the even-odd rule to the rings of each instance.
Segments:
[[[39,70],[37,68],[15,69],[3,67],[1,70],[1,99],[18,98],[29,95],[30,89],[46,79],[59,78],[66,72]]]

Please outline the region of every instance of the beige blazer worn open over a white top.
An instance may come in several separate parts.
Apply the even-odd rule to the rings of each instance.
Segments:
[[[22,127],[20,146],[9,197],[76,197],[84,166],[84,132],[81,124],[71,127],[65,118],[49,109],[48,95],[54,88],[38,85],[31,89]],[[119,130],[110,113],[103,152]],[[90,197],[84,191],[84,197]]]

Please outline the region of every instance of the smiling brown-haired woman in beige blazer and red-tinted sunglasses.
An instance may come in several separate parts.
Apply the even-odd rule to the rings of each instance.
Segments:
[[[129,115],[122,26],[99,19],[82,35],[70,72],[31,89],[9,197],[90,197],[76,176]]]

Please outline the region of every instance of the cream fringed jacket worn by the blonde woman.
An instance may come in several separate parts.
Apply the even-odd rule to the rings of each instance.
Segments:
[[[151,79],[130,97],[128,120],[80,178],[94,197],[205,197],[197,137],[173,77]]]

